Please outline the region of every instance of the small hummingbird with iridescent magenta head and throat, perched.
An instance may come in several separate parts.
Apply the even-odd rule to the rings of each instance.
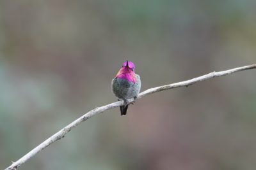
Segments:
[[[126,115],[128,109],[127,99],[137,99],[140,92],[140,76],[134,72],[135,65],[131,61],[125,61],[121,69],[112,80],[112,90],[118,101],[124,100],[124,105],[120,106],[121,115]]]

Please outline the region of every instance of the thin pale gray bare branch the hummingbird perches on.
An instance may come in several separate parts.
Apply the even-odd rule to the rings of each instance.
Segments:
[[[255,69],[255,68],[256,68],[256,64],[253,64],[253,65],[250,65],[250,66],[228,69],[226,71],[219,71],[219,72],[214,71],[212,73],[205,74],[203,76],[199,76],[199,77],[196,77],[196,78],[192,78],[190,80],[180,81],[178,83],[173,83],[173,84],[170,84],[170,85],[163,85],[163,86],[154,87],[154,88],[145,90],[144,92],[141,92],[139,94],[138,99],[140,99],[141,97],[145,97],[149,94],[154,94],[156,92],[161,92],[163,90],[174,89],[174,88],[177,88],[177,87],[188,87],[189,85],[193,85],[194,83],[197,83],[199,81],[204,81],[204,80],[208,80],[210,78],[225,76],[227,74],[236,73],[238,71],[244,71],[244,70]],[[129,99],[128,101],[129,101],[129,103],[131,103],[132,101],[134,101],[134,99]],[[117,108],[118,106],[122,106],[123,104],[124,104],[124,101],[118,101],[118,102],[115,102],[115,103],[108,104],[106,106],[101,106],[101,107],[95,108],[95,109],[89,111],[88,113],[85,113],[83,116],[77,118],[77,120],[74,120],[74,122],[68,124],[66,127],[61,129],[60,131],[56,132],[56,134],[53,134],[50,138],[46,139],[43,143],[41,143],[40,145],[33,148],[33,150],[28,152],[22,158],[20,158],[16,162],[13,162],[12,165],[7,167],[5,170],[15,170],[15,169],[17,169],[17,167],[19,167],[20,165],[27,162],[29,159],[31,159],[31,157],[35,156],[36,153],[40,152],[41,150],[43,150],[47,146],[51,145],[55,141],[58,141],[59,139],[63,138],[65,136],[65,134],[67,134],[68,132],[71,131],[71,129],[73,129],[74,127],[77,127],[77,125],[81,124],[82,122],[84,122],[88,118],[91,118],[94,115],[102,113],[106,110],[111,110],[113,108]]]

